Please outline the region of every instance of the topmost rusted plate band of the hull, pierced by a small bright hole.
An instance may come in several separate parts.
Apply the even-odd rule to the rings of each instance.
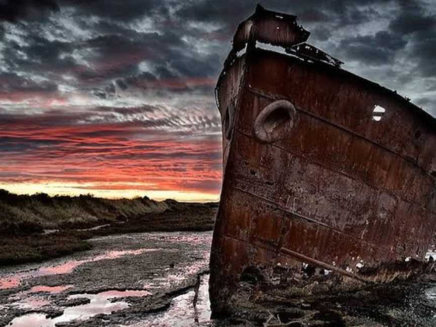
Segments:
[[[436,169],[434,118],[392,91],[330,65],[311,64],[257,49],[250,57],[249,84],[296,107],[361,135],[416,162]],[[315,89],[316,87],[316,89]],[[372,121],[375,105],[386,109]],[[419,132],[419,133],[418,133]],[[419,135],[419,138],[417,138]]]

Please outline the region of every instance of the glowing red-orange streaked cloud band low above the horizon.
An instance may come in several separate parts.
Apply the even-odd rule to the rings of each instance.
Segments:
[[[220,138],[162,135],[135,123],[0,122],[0,180],[219,194]]]

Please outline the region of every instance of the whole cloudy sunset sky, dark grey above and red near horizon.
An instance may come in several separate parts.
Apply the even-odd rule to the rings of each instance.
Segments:
[[[213,89],[257,1],[0,0],[0,188],[218,200]],[[272,0],[436,116],[436,0]]]

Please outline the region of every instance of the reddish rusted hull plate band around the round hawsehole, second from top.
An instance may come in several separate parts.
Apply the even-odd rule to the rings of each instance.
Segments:
[[[270,102],[270,98],[253,92],[248,92],[244,96],[236,123],[242,134],[252,134],[252,125],[244,122],[254,121],[262,108]],[[325,166],[328,171],[335,171],[336,174],[360,180],[374,189],[429,207],[428,204],[433,199],[431,191],[434,190],[434,180],[415,163],[401,158],[375,142],[303,111],[299,111],[297,116],[298,121],[294,128],[286,138],[276,142],[275,147],[297,154],[309,162],[316,162],[319,166]],[[257,161],[259,158],[252,156],[251,153],[253,146],[261,146],[261,144],[256,140],[252,143],[241,148],[249,152],[246,157]],[[265,152],[268,151],[269,149]],[[267,154],[265,156],[268,157]],[[267,167],[277,164],[280,160],[278,155],[270,155],[269,158],[270,161],[264,163]],[[261,156],[260,160],[266,159]],[[284,169],[284,167],[281,168]],[[273,169],[273,171],[276,170]]]

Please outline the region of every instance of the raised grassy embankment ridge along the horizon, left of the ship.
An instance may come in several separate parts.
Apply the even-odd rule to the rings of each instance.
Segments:
[[[0,190],[0,231],[22,235],[44,229],[85,229],[169,209],[148,197],[104,199],[92,195],[17,195]],[[3,234],[2,233],[2,234]]]

